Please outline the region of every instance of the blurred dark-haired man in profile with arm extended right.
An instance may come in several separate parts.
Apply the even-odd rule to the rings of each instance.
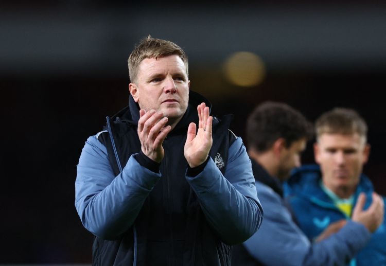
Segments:
[[[265,102],[250,114],[248,154],[265,217],[256,234],[234,247],[232,265],[343,265],[370,239],[369,229],[381,222],[378,202],[368,211],[358,204],[352,221],[331,224],[317,241],[311,243],[302,233],[283,200],[282,182],[300,166],[311,136],[310,123],[287,104]]]

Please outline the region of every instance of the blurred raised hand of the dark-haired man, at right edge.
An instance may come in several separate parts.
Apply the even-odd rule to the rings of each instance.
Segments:
[[[366,196],[364,193],[360,193],[352,216],[353,221],[362,223],[370,230],[371,233],[373,233],[379,225],[382,224],[384,215],[383,199],[375,192],[373,192],[372,197],[373,202],[370,207],[363,210],[363,206],[366,202]]]

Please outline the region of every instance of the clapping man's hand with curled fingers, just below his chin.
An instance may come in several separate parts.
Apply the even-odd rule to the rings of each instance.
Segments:
[[[165,151],[162,143],[170,132],[171,127],[166,126],[167,117],[155,110],[139,110],[138,137],[141,141],[142,152],[154,162],[160,163],[164,158]]]

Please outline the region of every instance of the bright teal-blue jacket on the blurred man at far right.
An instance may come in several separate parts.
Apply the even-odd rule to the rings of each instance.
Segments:
[[[285,196],[300,228],[312,240],[333,222],[350,219],[339,210],[320,187],[321,172],[317,165],[305,165],[293,171],[284,186]],[[373,184],[362,174],[354,195],[354,205],[359,193],[366,194],[365,209],[372,202]],[[383,201],[385,198],[383,197]],[[385,212],[386,213],[386,212]],[[369,243],[350,262],[350,265],[386,265],[386,219],[371,236]],[[355,238],[355,236],[353,236]]]

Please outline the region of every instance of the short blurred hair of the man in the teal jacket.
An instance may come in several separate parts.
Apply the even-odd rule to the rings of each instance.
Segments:
[[[353,109],[334,108],[322,114],[315,121],[315,132],[317,139],[322,134],[344,134],[357,133],[367,141],[367,125],[364,119]]]

